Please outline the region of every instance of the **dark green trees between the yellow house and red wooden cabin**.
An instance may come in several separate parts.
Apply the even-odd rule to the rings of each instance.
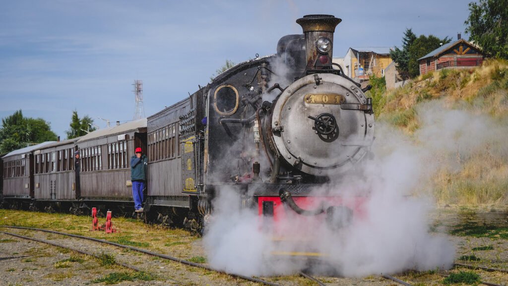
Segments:
[[[439,39],[432,35],[417,37],[408,28],[402,38],[402,50],[396,47],[390,51],[390,57],[397,64],[397,71],[402,79],[414,78],[420,74],[418,59],[450,41],[448,37]]]

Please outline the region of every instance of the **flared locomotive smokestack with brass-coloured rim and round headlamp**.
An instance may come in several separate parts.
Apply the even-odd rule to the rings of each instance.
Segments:
[[[331,69],[333,33],[341,21],[332,15],[306,15],[296,20],[302,26],[305,36],[307,71]]]

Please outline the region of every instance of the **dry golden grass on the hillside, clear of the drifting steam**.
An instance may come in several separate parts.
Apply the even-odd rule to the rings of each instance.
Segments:
[[[467,110],[508,125],[508,62],[487,60],[482,67],[447,69],[425,74],[409,84],[388,91],[378,106],[377,120],[388,122],[410,137],[421,128],[419,105],[440,100],[451,109]],[[508,134],[508,128],[506,129]],[[464,131],[467,132],[467,131]],[[436,170],[431,186],[439,204],[508,204],[508,147],[489,142],[470,154],[455,154],[458,167]]]

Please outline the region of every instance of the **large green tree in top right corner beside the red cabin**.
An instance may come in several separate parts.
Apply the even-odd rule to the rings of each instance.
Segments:
[[[508,0],[469,3],[469,17],[464,24],[469,40],[486,56],[508,59]]]

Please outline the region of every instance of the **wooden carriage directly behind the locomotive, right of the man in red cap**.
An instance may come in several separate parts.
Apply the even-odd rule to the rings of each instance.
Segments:
[[[148,141],[148,203],[158,206],[190,208],[187,194],[197,194],[199,168],[195,148],[202,142],[196,136],[203,129],[201,90],[150,117]],[[197,116],[199,115],[199,116]],[[201,119],[200,119],[201,120]],[[185,148],[187,146],[187,148]],[[192,183],[188,183],[192,181]],[[198,186],[199,187],[199,186]]]

